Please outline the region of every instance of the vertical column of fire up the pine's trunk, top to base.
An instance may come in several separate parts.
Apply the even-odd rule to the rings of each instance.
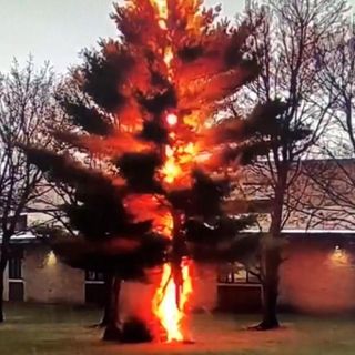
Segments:
[[[168,30],[166,20],[169,17],[166,0],[151,0],[158,11],[159,24],[163,30]],[[169,71],[169,79],[173,80],[172,61],[174,59],[172,47],[169,44],[164,48],[164,62]],[[164,183],[173,185],[183,174],[180,163],[182,153],[186,155],[190,145],[178,144],[175,129],[179,125],[179,116],[169,112],[165,115],[165,124],[170,129],[170,143],[164,149],[164,165],[161,171]],[[178,146],[179,145],[179,146]],[[191,161],[193,156],[191,155]],[[181,223],[183,215],[179,211],[171,211],[164,221],[165,230],[169,230],[172,239],[172,257],[169,263],[164,264],[162,280],[153,298],[153,313],[160,320],[162,327],[166,333],[166,342],[182,342],[185,336],[182,329],[184,308],[189,295],[192,292],[190,264],[183,257],[183,241]]]

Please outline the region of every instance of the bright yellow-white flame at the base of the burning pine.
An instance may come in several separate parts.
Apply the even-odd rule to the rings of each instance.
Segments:
[[[164,328],[164,338],[171,342],[191,342],[183,332],[183,320],[189,296],[192,293],[191,262],[183,260],[174,270],[174,265],[166,263],[163,275],[153,298],[153,313]],[[176,275],[180,274],[181,276]]]

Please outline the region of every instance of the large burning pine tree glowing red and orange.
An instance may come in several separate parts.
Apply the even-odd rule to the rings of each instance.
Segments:
[[[237,232],[253,219],[223,209],[225,172],[270,142],[265,108],[213,124],[225,100],[258,72],[246,45],[253,28],[217,22],[219,11],[199,0],[115,6],[119,39],[85,51],[60,97],[72,128],[53,135],[67,151],[26,148],[49,179],[73,192],[62,207],[78,236],[57,245],[59,254],[115,278],[109,338],[124,338],[115,307],[121,280],[161,265],[152,313],[168,342],[183,341],[191,261],[231,261],[245,248]],[[273,120],[280,106],[266,109]]]

